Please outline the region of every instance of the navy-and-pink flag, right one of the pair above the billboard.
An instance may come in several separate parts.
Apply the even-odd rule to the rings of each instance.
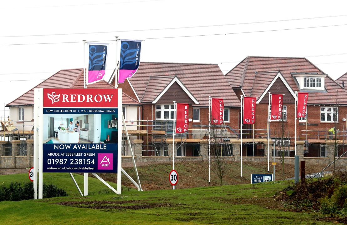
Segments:
[[[118,84],[134,76],[140,64],[141,41],[121,40]]]

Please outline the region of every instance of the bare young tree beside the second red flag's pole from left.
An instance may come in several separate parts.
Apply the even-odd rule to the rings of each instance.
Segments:
[[[210,154],[211,154],[211,170],[215,173],[223,185],[223,177],[230,170],[231,163],[228,163],[228,158],[225,156],[232,156],[230,149],[230,142],[225,141],[223,127],[210,123]],[[207,147],[208,148],[208,147]],[[207,149],[208,150],[208,149]]]

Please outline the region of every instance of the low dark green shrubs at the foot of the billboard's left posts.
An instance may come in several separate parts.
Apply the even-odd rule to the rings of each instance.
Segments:
[[[43,198],[68,196],[66,191],[53,184],[43,184]],[[34,185],[32,182],[11,182],[8,187],[0,185],[0,201],[21,201],[34,199]]]

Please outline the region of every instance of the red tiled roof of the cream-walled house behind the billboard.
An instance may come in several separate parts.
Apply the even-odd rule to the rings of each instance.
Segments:
[[[42,81],[34,88],[83,88],[83,68],[79,69],[66,69],[54,73],[51,77]],[[7,104],[7,106],[17,105],[33,105],[34,104],[34,88],[24,93],[14,101]],[[87,85],[87,88],[115,88],[105,80],[98,83]],[[135,99],[123,93],[123,104],[139,104]],[[134,101],[135,102],[134,102]]]

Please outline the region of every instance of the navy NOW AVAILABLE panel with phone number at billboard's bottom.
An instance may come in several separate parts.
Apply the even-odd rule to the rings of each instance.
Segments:
[[[118,144],[43,144],[44,173],[117,173]]]

